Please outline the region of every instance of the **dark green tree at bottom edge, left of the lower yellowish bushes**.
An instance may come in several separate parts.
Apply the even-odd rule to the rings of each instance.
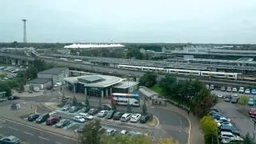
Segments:
[[[100,144],[101,128],[101,123],[97,119],[86,124],[82,130],[82,134],[78,136],[79,144]]]

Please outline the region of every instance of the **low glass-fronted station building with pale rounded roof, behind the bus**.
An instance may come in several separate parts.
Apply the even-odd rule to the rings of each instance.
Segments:
[[[84,75],[64,78],[66,88],[85,97],[110,98],[112,93],[133,93],[138,90],[138,82],[124,82],[123,78],[110,75]]]

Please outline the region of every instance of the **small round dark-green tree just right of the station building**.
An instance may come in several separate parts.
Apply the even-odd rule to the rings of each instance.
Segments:
[[[153,72],[147,72],[143,74],[141,78],[139,78],[139,84],[146,87],[152,87],[156,84],[157,75]]]

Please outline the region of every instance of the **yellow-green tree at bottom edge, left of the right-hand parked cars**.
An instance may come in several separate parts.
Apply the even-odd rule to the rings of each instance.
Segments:
[[[205,138],[205,143],[218,143],[218,126],[211,116],[204,116],[200,120],[200,126],[202,128]]]

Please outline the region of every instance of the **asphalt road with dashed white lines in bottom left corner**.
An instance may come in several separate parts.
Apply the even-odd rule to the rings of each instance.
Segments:
[[[14,135],[26,144],[76,144],[74,139],[38,130],[17,122],[0,119],[0,134]]]

